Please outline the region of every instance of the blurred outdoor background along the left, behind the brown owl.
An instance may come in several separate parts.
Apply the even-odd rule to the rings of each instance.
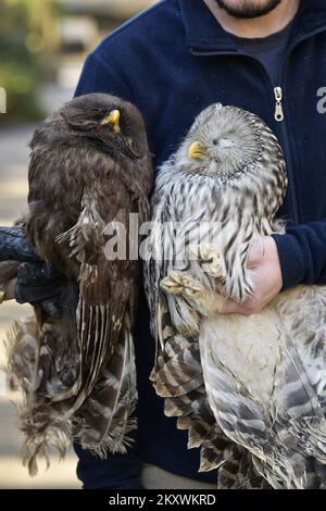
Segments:
[[[36,123],[72,98],[86,54],[151,0],[0,0],[0,225],[26,211]],[[4,113],[5,112],[5,113]],[[52,459],[30,478],[18,461],[15,404],[5,390],[5,332],[27,306],[0,306],[0,488],[78,488],[76,459]]]

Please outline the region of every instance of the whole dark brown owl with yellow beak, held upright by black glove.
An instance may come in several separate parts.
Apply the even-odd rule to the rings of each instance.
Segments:
[[[139,267],[129,247],[115,260],[105,247],[108,225],[128,239],[129,214],[148,220],[152,166],[140,113],[104,94],[64,104],[37,127],[30,149],[28,239],[64,284],[61,317],[36,308],[35,339],[20,323],[10,347],[25,394],[23,459],[35,472],[50,444],[63,453],[74,437],[98,453],[124,451],[135,427]]]

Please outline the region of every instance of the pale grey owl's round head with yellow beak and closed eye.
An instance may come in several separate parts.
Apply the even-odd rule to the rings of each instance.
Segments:
[[[279,153],[276,137],[258,116],[240,108],[212,104],[198,115],[176,152],[176,166],[231,182],[261,160],[266,130]]]

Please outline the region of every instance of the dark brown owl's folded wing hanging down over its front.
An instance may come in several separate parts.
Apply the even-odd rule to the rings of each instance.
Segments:
[[[104,230],[109,217],[99,213],[98,187],[86,189],[84,209],[74,227],[59,236],[58,241],[68,242],[71,257],[80,263],[79,303],[77,308],[77,335],[80,350],[79,389],[71,413],[74,413],[92,391],[105,361],[110,361],[117,340],[126,326],[125,313],[130,299],[127,278],[116,283],[117,265],[108,261],[104,249]],[[115,212],[114,212],[115,213]],[[120,221],[127,222],[127,213],[120,211]],[[128,270],[128,261],[120,261]]]

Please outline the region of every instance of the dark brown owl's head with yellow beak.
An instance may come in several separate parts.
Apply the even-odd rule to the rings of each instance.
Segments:
[[[113,157],[142,158],[148,151],[145,124],[130,103],[106,94],[74,98],[36,129],[35,142],[95,146]]]

